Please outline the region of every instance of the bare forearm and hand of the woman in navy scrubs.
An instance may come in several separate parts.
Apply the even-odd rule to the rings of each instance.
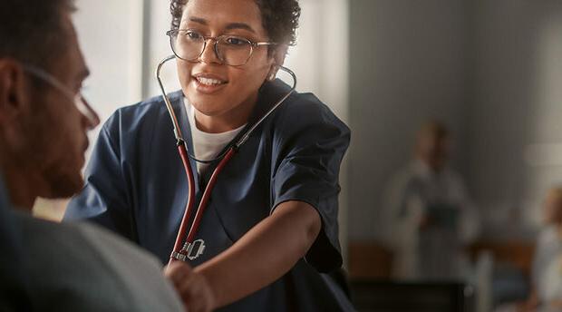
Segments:
[[[305,257],[321,229],[322,220],[314,207],[288,200],[230,248],[197,268],[175,261],[164,274],[189,312],[224,307],[286,274]]]

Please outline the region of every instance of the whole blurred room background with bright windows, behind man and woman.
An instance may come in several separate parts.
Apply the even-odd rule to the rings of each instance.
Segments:
[[[153,72],[171,54],[162,2],[77,1],[84,94],[103,120],[159,95]],[[562,185],[562,1],[300,4],[286,66],[352,129],[340,235],[356,307],[531,311],[539,297],[562,310],[562,235],[553,262],[541,258],[554,281],[543,287],[533,268]],[[65,205],[38,200],[34,213],[61,219]]]

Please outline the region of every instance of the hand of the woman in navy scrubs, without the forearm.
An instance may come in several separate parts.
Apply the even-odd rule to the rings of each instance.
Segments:
[[[207,312],[216,307],[216,299],[207,278],[183,261],[173,261],[164,268],[164,276],[169,278],[186,311]]]

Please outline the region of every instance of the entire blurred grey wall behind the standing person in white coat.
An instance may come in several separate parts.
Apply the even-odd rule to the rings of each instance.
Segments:
[[[562,2],[352,0],[350,21],[350,239],[381,238],[427,117],[451,126],[483,235],[531,239],[562,183]]]

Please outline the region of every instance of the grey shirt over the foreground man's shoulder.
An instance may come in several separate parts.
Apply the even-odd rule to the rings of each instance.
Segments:
[[[42,311],[182,311],[160,261],[105,229],[15,214]]]

